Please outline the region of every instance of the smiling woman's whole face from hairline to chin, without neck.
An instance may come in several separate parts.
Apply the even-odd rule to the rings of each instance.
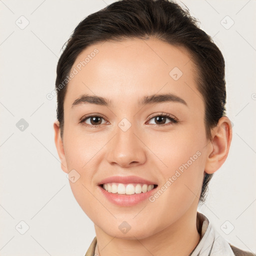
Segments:
[[[95,225],[143,238],[196,212],[210,143],[187,51],[157,39],[104,42],[71,73],[62,169]]]

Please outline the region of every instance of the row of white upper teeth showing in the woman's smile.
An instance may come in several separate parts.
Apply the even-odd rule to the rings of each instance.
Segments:
[[[105,183],[103,184],[103,188],[110,193],[117,194],[139,194],[145,193],[146,191],[150,191],[154,188],[153,184],[147,185],[142,183]]]

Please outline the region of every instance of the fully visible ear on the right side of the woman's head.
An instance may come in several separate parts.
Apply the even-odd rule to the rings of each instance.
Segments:
[[[224,163],[232,140],[231,122],[226,116],[219,118],[217,125],[211,130],[212,140],[208,143],[208,157],[204,171],[215,172]]]

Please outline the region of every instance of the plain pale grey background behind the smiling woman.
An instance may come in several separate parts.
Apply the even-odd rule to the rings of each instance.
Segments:
[[[46,94],[54,89],[60,49],[74,27],[111,2],[0,0],[1,256],[84,255],[95,235],[60,168],[52,125],[56,98]],[[183,3],[224,55],[233,122],[229,155],[199,211],[229,242],[256,252],[256,1]],[[23,130],[21,118],[28,123]]]

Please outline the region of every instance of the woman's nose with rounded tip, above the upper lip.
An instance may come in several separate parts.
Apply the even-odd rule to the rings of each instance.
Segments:
[[[126,131],[117,127],[116,135],[108,144],[107,161],[121,167],[143,164],[146,161],[146,146],[141,140],[139,134],[134,134],[132,126]]]

